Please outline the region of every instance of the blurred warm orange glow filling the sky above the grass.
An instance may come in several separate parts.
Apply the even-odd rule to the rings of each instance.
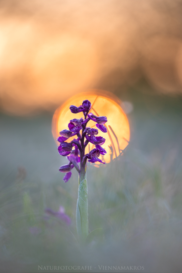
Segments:
[[[2,112],[54,113],[81,90],[143,79],[182,94],[180,1],[2,0],[0,12]]]

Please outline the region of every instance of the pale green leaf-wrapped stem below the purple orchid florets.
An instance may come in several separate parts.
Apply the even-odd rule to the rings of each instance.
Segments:
[[[79,242],[83,244],[89,233],[86,168],[84,170],[84,176],[83,172],[80,172],[79,174],[78,199],[76,204],[76,229]]]

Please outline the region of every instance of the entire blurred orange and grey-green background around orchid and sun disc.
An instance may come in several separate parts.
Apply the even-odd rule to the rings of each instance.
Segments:
[[[181,13],[181,0],[0,1],[1,272],[181,272]],[[63,183],[51,123],[88,89],[118,96],[131,136],[122,157],[88,165],[89,229],[103,237],[83,250],[77,173]],[[45,214],[59,206],[69,227]]]

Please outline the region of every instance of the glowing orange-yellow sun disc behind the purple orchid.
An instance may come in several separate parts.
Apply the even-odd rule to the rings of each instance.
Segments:
[[[83,100],[88,99],[92,103],[92,112],[96,116],[106,116],[107,122],[104,124],[107,127],[107,133],[103,133],[100,130],[97,136],[103,136],[106,141],[102,147],[106,150],[107,154],[100,156],[103,162],[109,163],[111,158],[116,158],[120,155],[121,150],[124,150],[130,140],[130,126],[126,114],[121,108],[121,101],[110,92],[104,90],[89,90],[83,93],[79,93],[69,100],[67,100],[62,106],[60,106],[54,113],[52,119],[52,134],[56,140],[59,136],[59,132],[63,129],[68,130],[68,123],[70,120],[76,118],[84,118],[83,113],[73,114],[69,110],[70,105],[76,105],[77,107],[82,105]],[[88,126],[96,128],[96,123],[92,120],[89,121]],[[97,128],[96,128],[97,129]],[[69,138],[67,142],[70,142],[72,138]],[[57,142],[57,141],[56,141]],[[57,142],[58,146],[59,143]],[[95,148],[95,145],[89,143],[86,147],[85,153]]]

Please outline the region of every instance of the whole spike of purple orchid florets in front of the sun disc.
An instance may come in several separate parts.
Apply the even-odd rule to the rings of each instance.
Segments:
[[[60,172],[66,173],[63,177],[64,182],[67,182],[71,177],[71,170],[73,167],[78,171],[79,177],[82,181],[86,172],[86,161],[88,160],[91,163],[98,161],[105,164],[105,162],[98,157],[100,154],[106,154],[106,150],[101,147],[105,142],[105,138],[102,136],[96,136],[98,134],[98,129],[103,133],[107,132],[106,126],[103,125],[107,122],[106,116],[95,116],[93,113],[89,113],[91,103],[88,99],[85,99],[82,105],[78,107],[70,105],[69,109],[74,114],[83,112],[84,119],[80,118],[70,120],[68,124],[69,130],[62,130],[59,133],[60,136],[57,138],[57,141],[60,142],[60,146],[58,147],[59,154],[64,157],[67,156],[67,159],[69,160],[69,164],[62,165],[59,168]],[[89,120],[95,121],[98,129],[87,127]],[[74,138],[70,143],[67,142],[69,137],[75,135],[77,135],[77,139]],[[89,142],[96,145],[96,148],[85,155],[85,147]]]

